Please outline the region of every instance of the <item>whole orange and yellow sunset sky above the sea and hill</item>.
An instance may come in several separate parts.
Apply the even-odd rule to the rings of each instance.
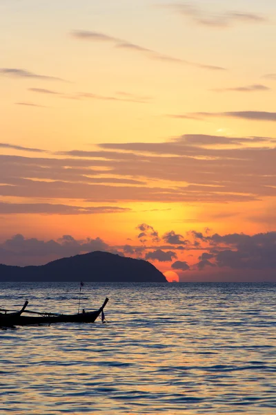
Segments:
[[[1,0],[0,263],[276,281],[276,3]]]

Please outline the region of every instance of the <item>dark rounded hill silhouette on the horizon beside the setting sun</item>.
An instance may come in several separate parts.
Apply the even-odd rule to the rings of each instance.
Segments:
[[[95,251],[57,259],[41,266],[0,264],[0,281],[70,282],[167,282],[148,261]]]

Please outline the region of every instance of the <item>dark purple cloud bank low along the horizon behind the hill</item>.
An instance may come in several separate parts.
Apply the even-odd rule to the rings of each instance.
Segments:
[[[202,232],[198,232],[202,234]],[[170,250],[172,248],[172,250]],[[26,238],[21,234],[0,243],[0,263],[13,265],[45,264],[47,261],[70,255],[78,255],[93,250],[115,252],[149,261],[172,262],[177,259],[173,251],[175,247],[159,246],[109,246],[101,237],[77,240],[66,234],[57,240],[41,241],[37,238]],[[185,252],[187,257],[193,257],[187,250],[194,250],[189,246]],[[172,262],[171,268],[179,271],[189,270],[188,275],[193,280],[208,281],[217,278],[217,275],[227,276],[227,280],[237,279],[241,276],[243,281],[275,281],[276,270],[276,231],[259,234],[210,234],[204,241],[205,250],[199,255],[199,262],[193,266],[187,261]],[[182,252],[178,252],[183,255]],[[210,270],[212,273],[210,274]],[[196,274],[196,271],[199,274]],[[241,274],[242,273],[242,274]],[[201,275],[201,277],[200,277]],[[237,279],[239,280],[239,278]]]

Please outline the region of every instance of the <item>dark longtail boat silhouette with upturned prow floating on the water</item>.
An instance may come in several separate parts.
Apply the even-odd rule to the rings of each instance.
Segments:
[[[6,310],[5,308],[0,308],[0,327],[33,326],[35,324],[53,323],[94,323],[97,317],[100,315],[101,320],[104,322],[103,308],[105,308],[107,303],[108,297],[106,297],[103,305],[96,311],[83,310],[81,313],[77,314],[57,314],[28,311],[26,310],[28,301],[26,301],[20,311],[12,311]],[[32,315],[25,315],[25,313]]]

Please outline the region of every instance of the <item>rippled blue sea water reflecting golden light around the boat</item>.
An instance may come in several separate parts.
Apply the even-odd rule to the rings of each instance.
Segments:
[[[92,284],[106,324],[0,331],[0,414],[276,414],[276,284]],[[2,283],[75,313],[78,284]]]

